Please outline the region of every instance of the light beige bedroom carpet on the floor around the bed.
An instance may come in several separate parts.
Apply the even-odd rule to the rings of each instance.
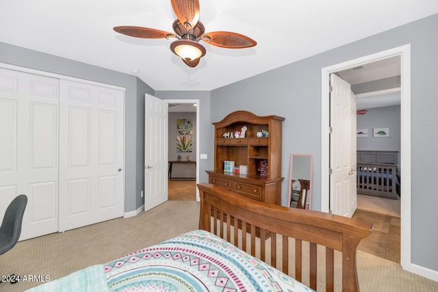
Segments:
[[[198,213],[198,202],[168,201],[135,217],[21,241],[0,256],[0,274],[48,275],[54,280],[197,229]],[[403,271],[397,263],[360,251],[357,257],[362,292],[438,291],[438,282]],[[38,284],[1,283],[0,291],[24,291]]]

